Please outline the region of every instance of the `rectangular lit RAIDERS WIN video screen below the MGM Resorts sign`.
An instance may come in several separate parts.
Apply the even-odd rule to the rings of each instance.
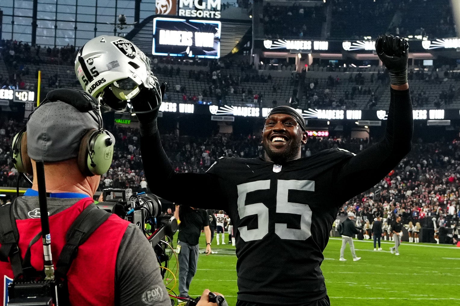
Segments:
[[[152,54],[219,58],[220,30],[219,21],[156,17]]]

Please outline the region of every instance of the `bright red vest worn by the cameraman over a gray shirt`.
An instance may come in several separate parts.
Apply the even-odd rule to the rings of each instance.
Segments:
[[[59,254],[65,245],[65,234],[92,198],[81,199],[73,206],[49,217],[53,263],[56,267]],[[40,219],[16,220],[19,231],[19,249],[24,258],[29,243],[41,231]],[[70,303],[75,306],[115,305],[115,265],[121,238],[125,234],[128,222],[112,215],[83,245],[67,273]],[[43,245],[41,239],[31,247],[31,264],[37,270],[43,270]],[[0,301],[5,301],[4,288],[6,277],[13,278],[11,265],[0,261]]]

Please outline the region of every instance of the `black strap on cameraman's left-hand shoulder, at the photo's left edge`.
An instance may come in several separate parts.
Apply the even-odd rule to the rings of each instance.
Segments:
[[[0,261],[8,262],[10,258],[11,269],[14,276],[23,273],[21,253],[19,252],[19,232],[13,214],[13,205],[0,207]]]

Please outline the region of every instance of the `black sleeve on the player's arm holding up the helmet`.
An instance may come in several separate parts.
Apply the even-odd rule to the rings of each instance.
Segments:
[[[215,174],[176,173],[173,170],[158,131],[150,135],[141,133],[140,143],[145,178],[155,195],[177,204],[193,202],[194,207],[205,209],[221,209],[222,203],[226,203]]]

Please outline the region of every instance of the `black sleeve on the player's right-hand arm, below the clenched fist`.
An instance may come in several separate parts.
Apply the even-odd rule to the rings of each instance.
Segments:
[[[414,121],[409,89],[390,91],[385,137],[351,157],[335,173],[341,203],[379,183],[411,150]]]

